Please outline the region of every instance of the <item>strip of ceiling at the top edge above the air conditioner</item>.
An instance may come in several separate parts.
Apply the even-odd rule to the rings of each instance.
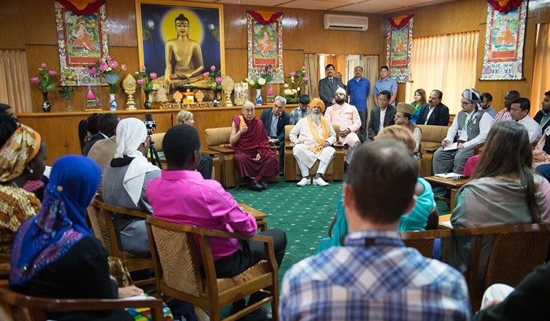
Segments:
[[[421,6],[443,4],[455,0],[195,0],[216,4],[239,4],[241,6],[269,6],[277,8],[295,8],[356,12],[358,14],[390,14],[392,12],[413,10]]]

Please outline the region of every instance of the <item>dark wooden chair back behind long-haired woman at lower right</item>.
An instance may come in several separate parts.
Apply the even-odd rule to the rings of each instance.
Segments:
[[[550,243],[549,224],[510,224],[485,228],[458,228],[451,230],[453,237],[474,238],[471,247],[471,263],[466,270],[470,300],[473,310],[479,309],[487,287],[505,283],[515,287],[535,267],[546,260]],[[492,237],[489,260],[484,279],[479,280],[479,263],[484,242]]]

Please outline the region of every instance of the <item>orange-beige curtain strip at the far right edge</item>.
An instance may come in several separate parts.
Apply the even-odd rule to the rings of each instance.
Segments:
[[[531,116],[541,108],[541,99],[550,91],[550,23],[539,24],[535,47],[535,65],[531,85]]]

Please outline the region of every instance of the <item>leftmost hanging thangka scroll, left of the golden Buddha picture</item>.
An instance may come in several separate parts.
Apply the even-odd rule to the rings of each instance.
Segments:
[[[61,86],[98,86],[103,79],[89,74],[89,66],[109,55],[105,4],[97,12],[77,16],[55,2]]]

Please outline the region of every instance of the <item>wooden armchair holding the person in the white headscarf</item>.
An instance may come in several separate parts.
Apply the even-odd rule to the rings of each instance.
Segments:
[[[96,199],[94,203],[88,207],[88,218],[91,223],[91,230],[94,231],[96,238],[101,240],[101,243],[103,243],[109,255],[120,258],[124,266],[126,266],[130,272],[154,268],[152,258],[136,258],[134,255],[121,250],[112,218],[115,213],[131,215],[143,219],[150,216],[148,213],[141,212],[140,210],[121,208],[119,206],[103,203],[101,200]],[[134,282],[134,284],[138,286],[154,283],[154,278]]]

